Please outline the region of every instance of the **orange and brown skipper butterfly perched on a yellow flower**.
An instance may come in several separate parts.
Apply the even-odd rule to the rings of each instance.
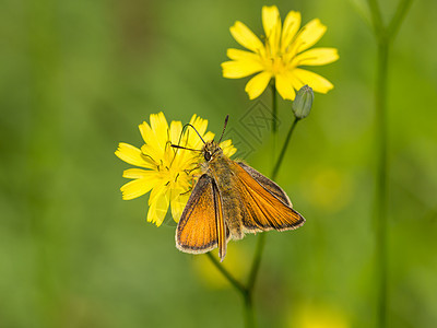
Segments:
[[[217,247],[223,261],[229,239],[241,239],[246,233],[295,230],[305,223],[274,181],[244,162],[231,160],[220,141],[202,141],[202,175],[176,229],[179,250],[203,254]]]

